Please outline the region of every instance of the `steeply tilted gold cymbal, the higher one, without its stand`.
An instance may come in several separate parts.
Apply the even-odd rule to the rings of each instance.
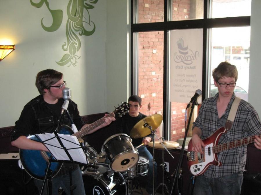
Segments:
[[[150,116],[146,116],[142,120],[136,123],[134,127],[131,129],[131,138],[143,138],[149,134],[151,134],[151,129],[148,126],[152,127],[152,130],[157,129],[162,122],[162,115],[153,114]]]

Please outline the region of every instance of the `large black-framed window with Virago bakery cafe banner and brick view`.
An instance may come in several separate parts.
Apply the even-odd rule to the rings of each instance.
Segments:
[[[197,89],[202,99],[216,92],[211,70],[222,61],[237,66],[235,92],[247,98],[250,10],[251,0],[132,1],[131,93],[142,97],[144,114],[162,112],[164,126],[157,135],[164,129],[166,140],[184,137],[186,105]],[[186,33],[194,30],[200,33],[189,41]],[[197,65],[180,62],[196,58]],[[181,99],[172,99],[173,89]],[[196,117],[197,109],[189,129]]]

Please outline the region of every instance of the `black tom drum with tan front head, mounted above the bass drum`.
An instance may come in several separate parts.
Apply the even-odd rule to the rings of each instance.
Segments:
[[[118,133],[110,136],[102,145],[101,151],[107,155],[115,172],[127,171],[138,162],[137,149],[131,142],[130,136]]]

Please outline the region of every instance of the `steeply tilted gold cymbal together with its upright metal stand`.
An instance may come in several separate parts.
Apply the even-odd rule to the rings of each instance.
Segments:
[[[153,135],[153,195],[155,194],[155,131],[160,126],[162,119],[160,114],[146,116],[134,125],[130,133],[131,138],[143,138],[151,133]]]

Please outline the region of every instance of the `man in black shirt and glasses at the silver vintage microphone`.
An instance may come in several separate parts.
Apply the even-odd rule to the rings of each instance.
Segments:
[[[40,71],[37,74],[35,85],[40,95],[28,102],[23,108],[20,118],[15,122],[15,128],[11,137],[11,144],[21,149],[48,151],[44,144],[30,140],[27,137],[28,135],[44,132],[53,133],[56,130],[61,117],[61,107],[64,103],[64,99],[62,99],[62,91],[65,88],[66,82],[63,79],[62,73],[56,70],[47,69]],[[69,100],[67,109],[78,130],[88,126],[88,124],[84,123],[81,116],[79,116],[76,103]],[[113,120],[115,120],[114,117],[104,117],[105,122],[89,133],[93,133],[94,131],[110,124]],[[61,118],[61,125],[71,126],[71,122],[67,114],[64,114]],[[70,194],[68,168],[71,166],[72,165],[68,163],[64,164],[58,174],[52,178],[53,195],[58,195],[59,187],[62,187],[66,194]],[[77,195],[85,195],[81,170],[77,164],[74,164],[73,166],[72,179],[73,185],[76,185],[73,193]],[[35,185],[37,186],[39,192],[41,191],[42,183],[42,180],[35,179]],[[48,184],[46,183],[46,185]],[[46,187],[44,189],[44,194],[48,194]]]

